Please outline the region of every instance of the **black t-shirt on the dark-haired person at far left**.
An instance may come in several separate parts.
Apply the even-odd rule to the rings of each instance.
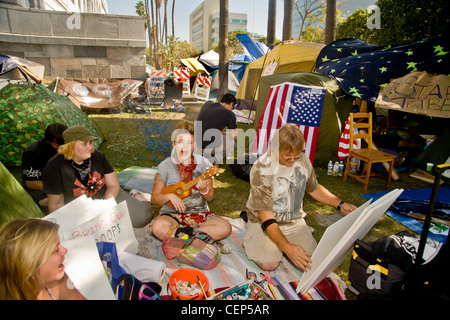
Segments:
[[[31,143],[22,153],[22,182],[42,180],[44,167],[56,150],[41,138]]]

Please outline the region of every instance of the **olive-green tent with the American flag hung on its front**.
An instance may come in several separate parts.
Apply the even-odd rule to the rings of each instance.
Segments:
[[[341,132],[352,109],[353,100],[327,75],[312,72],[281,73],[261,77],[258,88],[258,104],[255,127],[264,110],[270,87],[284,82],[293,82],[309,86],[326,88],[325,102],[317,137],[314,166],[326,167],[328,161],[337,161],[337,149]]]

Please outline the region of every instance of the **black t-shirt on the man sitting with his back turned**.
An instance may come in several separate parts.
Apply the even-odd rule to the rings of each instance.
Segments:
[[[201,137],[198,137],[198,135],[196,136],[196,142],[198,145],[202,146],[202,149],[205,149],[206,147],[216,148],[222,145],[222,139],[220,139],[220,141],[215,141],[216,139],[214,136],[209,138],[208,133],[206,132],[207,130],[217,129],[222,131],[225,127],[228,129],[237,128],[236,115],[218,102],[213,103],[207,101],[200,109],[197,121],[202,122],[202,135]],[[205,132],[207,137],[205,137]]]

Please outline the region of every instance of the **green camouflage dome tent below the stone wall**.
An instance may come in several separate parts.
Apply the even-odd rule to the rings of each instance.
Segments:
[[[44,136],[53,122],[67,126],[82,125],[103,142],[99,130],[88,116],[65,96],[41,84],[10,83],[0,90],[0,161],[6,166],[19,166],[23,150]]]

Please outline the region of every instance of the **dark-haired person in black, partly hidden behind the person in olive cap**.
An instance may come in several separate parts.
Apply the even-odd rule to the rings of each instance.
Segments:
[[[22,185],[41,209],[47,209],[47,194],[42,190],[42,173],[48,160],[64,144],[62,133],[67,129],[63,123],[51,123],[43,138],[31,143],[22,153]]]

